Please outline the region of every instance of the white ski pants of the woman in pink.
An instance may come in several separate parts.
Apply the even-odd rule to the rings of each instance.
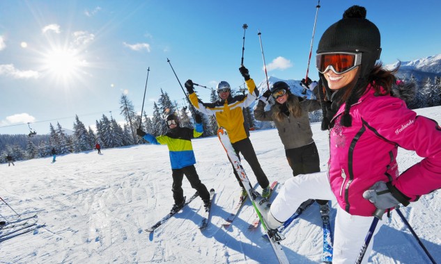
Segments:
[[[314,174],[301,174],[288,179],[281,188],[279,195],[271,205],[272,215],[284,222],[288,220],[297,208],[307,199],[321,199],[336,201],[327,180],[327,172]],[[334,256],[333,264],[355,263],[359,255],[364,238],[371,227],[373,217],[350,215],[337,204],[334,226]],[[378,221],[374,236],[382,226],[383,221]],[[362,263],[368,263],[371,254],[373,238],[369,243]]]

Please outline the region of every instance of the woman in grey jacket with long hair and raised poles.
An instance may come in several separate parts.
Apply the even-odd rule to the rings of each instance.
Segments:
[[[314,90],[317,83],[311,83],[310,80],[308,83],[310,83],[309,88]],[[270,110],[265,111],[270,96],[274,98],[275,103]],[[276,125],[285,147],[286,159],[293,170],[293,176],[320,172],[320,158],[316,143],[312,138],[308,115],[309,112],[320,108],[318,100],[297,97],[291,93],[287,83],[277,81],[270,90],[262,94],[254,109],[254,118],[259,121],[272,121]],[[327,218],[329,215],[327,201],[318,200],[317,203],[320,204],[320,213]],[[310,200],[305,201],[300,206],[300,210],[304,210],[309,204],[311,204]]]

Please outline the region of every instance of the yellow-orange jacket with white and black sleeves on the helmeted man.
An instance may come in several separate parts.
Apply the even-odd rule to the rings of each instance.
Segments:
[[[250,106],[258,97],[258,90],[253,79],[245,81],[247,83],[248,94],[229,96],[226,100],[215,101],[211,104],[203,103],[193,92],[189,94],[192,105],[199,112],[206,115],[214,115],[217,125],[223,126],[228,131],[231,143],[238,142],[249,137],[248,128],[245,127],[245,119],[242,109]]]

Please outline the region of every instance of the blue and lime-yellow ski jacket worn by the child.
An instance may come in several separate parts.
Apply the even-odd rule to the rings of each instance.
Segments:
[[[203,133],[202,124],[197,124],[194,129],[176,127],[167,134],[155,138],[146,134],[144,139],[155,145],[167,145],[169,147],[170,163],[172,169],[182,169],[196,163],[194,158],[192,138],[198,138]]]

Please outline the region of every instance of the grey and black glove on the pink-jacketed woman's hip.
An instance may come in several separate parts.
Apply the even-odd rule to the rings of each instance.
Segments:
[[[405,197],[392,183],[378,181],[363,193],[363,198],[371,201],[378,209],[386,210],[399,204],[408,206],[409,198]]]

